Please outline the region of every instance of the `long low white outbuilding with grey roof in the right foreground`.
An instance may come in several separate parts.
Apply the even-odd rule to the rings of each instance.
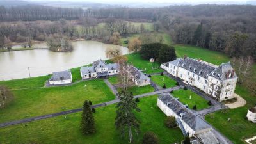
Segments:
[[[196,137],[201,143],[217,144],[219,141],[212,133],[212,127],[172,95],[158,97],[157,106],[166,116],[175,117],[184,136]]]

